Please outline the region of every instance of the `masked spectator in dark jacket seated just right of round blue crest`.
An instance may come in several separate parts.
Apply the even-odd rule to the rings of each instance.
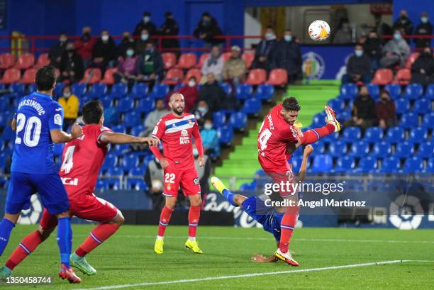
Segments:
[[[363,82],[367,84],[371,81],[371,60],[363,52],[360,44],[355,46],[354,55],[350,57],[347,63],[347,73],[342,77],[342,83]]]

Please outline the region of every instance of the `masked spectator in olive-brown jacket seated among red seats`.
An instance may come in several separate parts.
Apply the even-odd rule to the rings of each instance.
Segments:
[[[241,49],[238,45],[230,48],[230,58],[223,66],[223,79],[230,84],[239,84],[245,81],[247,72],[245,60],[241,57]]]

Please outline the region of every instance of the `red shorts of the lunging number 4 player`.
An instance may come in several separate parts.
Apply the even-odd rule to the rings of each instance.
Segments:
[[[77,216],[89,221],[111,221],[118,216],[119,211],[116,206],[104,199],[92,195],[83,196],[81,199],[69,200],[71,216]],[[40,220],[40,226],[44,229],[54,228],[57,225],[57,218],[50,214],[44,208],[43,217]]]

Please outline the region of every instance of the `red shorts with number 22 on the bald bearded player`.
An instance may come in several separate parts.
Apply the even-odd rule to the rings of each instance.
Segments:
[[[201,194],[201,185],[196,168],[181,169],[174,166],[165,168],[165,191],[164,196],[177,197],[179,186],[184,196]]]

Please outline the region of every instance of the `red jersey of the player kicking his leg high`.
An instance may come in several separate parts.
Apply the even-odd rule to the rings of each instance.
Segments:
[[[284,120],[281,111],[282,104],[272,108],[262,122],[257,138],[258,160],[266,172],[288,170],[291,155],[286,148],[298,142],[294,126]]]

